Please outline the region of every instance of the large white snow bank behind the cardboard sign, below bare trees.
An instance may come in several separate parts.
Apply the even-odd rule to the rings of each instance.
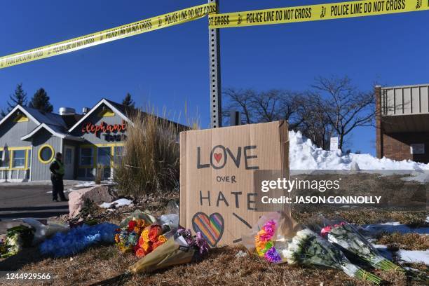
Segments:
[[[429,170],[429,164],[410,160],[393,161],[369,154],[342,154],[326,151],[313,144],[301,132],[289,132],[291,170]]]

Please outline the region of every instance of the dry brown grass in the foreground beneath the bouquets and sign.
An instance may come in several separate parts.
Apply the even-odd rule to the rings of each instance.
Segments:
[[[236,257],[243,247],[219,247],[193,264],[168,268],[146,275],[120,278],[137,258],[122,254],[114,246],[92,248],[71,260],[40,259],[36,249],[0,262],[1,269],[53,273],[53,285],[371,285],[349,278],[341,271],[275,265],[248,254]],[[401,273],[381,273],[386,285],[421,285]],[[119,278],[118,278],[119,277]],[[323,283],[323,284],[321,284]],[[5,284],[6,285],[6,284]],[[34,284],[42,285],[42,284]],[[48,285],[48,283],[45,283]]]

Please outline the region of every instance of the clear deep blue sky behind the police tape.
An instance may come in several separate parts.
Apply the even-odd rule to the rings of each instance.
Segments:
[[[220,11],[327,1],[221,0]],[[205,1],[2,1],[0,55],[116,27]],[[376,17],[222,29],[222,86],[305,90],[315,76],[348,75],[362,90],[428,83],[429,11]],[[210,122],[207,18],[0,69],[0,108],[17,83],[43,87],[58,107],[92,107],[129,92]],[[374,154],[374,128],[360,128],[350,148]]]

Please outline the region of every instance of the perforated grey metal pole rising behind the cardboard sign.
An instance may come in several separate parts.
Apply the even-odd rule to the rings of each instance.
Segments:
[[[219,0],[208,0],[216,3],[219,12]],[[219,29],[209,29],[210,50],[210,126],[222,127],[222,88],[220,73],[220,36]]]

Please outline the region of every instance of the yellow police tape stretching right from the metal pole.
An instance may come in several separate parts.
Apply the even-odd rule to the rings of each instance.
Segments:
[[[423,1],[426,3],[423,4]],[[354,18],[429,10],[429,0],[363,0],[209,15],[210,28]]]

